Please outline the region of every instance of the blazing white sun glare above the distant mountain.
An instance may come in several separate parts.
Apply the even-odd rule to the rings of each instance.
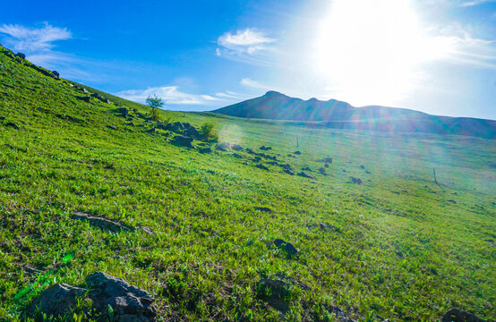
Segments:
[[[424,35],[408,0],[335,0],[315,42],[315,68],[355,105],[398,104],[419,85],[419,66],[446,48]]]

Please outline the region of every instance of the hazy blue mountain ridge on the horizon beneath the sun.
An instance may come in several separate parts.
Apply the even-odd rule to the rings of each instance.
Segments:
[[[336,99],[303,100],[268,91],[262,97],[212,111],[236,117],[319,123],[338,129],[408,131],[496,138],[496,121],[449,117],[387,106],[355,107]]]

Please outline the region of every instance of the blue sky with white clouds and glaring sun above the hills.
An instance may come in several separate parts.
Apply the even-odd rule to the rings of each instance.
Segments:
[[[2,1],[0,43],[120,97],[290,97],[496,119],[496,1]]]

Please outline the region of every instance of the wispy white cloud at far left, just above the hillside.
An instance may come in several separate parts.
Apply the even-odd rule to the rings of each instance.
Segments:
[[[41,28],[4,24],[0,27],[0,33],[6,35],[7,44],[26,54],[50,52],[55,46],[54,41],[72,38],[71,31],[53,27],[48,22],[45,22]]]

